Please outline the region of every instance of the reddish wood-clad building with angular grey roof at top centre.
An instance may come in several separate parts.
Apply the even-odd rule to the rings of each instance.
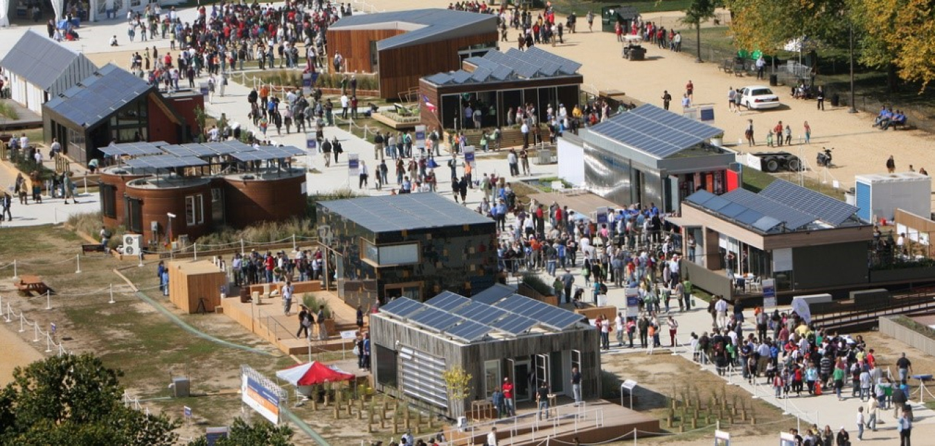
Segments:
[[[493,14],[437,8],[354,15],[328,28],[328,58],[340,54],[347,72],[377,73],[381,97],[397,99],[423,76],[496,50],[496,24]]]

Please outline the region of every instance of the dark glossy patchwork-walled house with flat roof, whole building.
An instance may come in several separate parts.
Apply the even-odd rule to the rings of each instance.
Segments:
[[[439,194],[322,201],[315,215],[335,271],[326,278],[352,308],[446,290],[472,295],[496,280],[494,221]]]

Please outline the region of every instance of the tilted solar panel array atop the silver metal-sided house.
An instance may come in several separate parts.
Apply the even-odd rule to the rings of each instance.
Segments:
[[[717,127],[649,104],[599,122],[590,131],[660,160],[724,133]]]

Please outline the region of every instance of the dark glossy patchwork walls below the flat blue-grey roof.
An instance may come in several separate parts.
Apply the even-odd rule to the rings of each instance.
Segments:
[[[328,277],[352,307],[400,295],[425,300],[444,290],[471,295],[494,284],[493,221],[374,233],[322,206],[317,223],[329,249]]]

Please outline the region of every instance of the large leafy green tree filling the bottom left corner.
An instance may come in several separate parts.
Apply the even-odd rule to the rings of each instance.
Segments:
[[[17,367],[0,391],[0,445],[174,444],[179,422],[124,407],[121,376],[91,354]]]

